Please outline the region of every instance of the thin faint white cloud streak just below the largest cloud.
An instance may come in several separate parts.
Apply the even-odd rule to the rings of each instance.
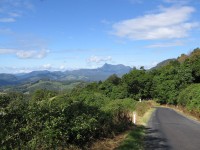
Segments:
[[[161,48],[161,47],[173,47],[173,46],[182,46],[184,45],[184,42],[182,41],[175,41],[171,43],[156,43],[152,45],[146,46],[146,48]]]

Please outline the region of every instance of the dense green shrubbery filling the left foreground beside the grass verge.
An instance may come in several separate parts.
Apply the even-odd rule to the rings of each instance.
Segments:
[[[84,147],[130,126],[128,112],[135,101],[111,100],[87,88],[80,90],[57,96],[38,90],[29,101],[1,95],[1,148]]]

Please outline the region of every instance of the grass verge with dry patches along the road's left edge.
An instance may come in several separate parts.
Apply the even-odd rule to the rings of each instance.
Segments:
[[[143,150],[146,125],[158,106],[155,101],[143,101],[137,104],[136,124],[124,133],[96,141],[89,148],[90,150]]]

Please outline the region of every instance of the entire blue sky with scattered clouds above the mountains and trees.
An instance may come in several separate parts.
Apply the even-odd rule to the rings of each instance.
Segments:
[[[200,0],[0,0],[0,73],[146,69],[199,47]]]

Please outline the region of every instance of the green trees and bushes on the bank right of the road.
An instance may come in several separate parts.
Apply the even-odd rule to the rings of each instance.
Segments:
[[[200,111],[196,86],[200,83],[199,68],[200,49],[197,48],[189,55],[182,54],[177,60],[153,71],[152,96],[161,104],[182,105],[190,110]]]

